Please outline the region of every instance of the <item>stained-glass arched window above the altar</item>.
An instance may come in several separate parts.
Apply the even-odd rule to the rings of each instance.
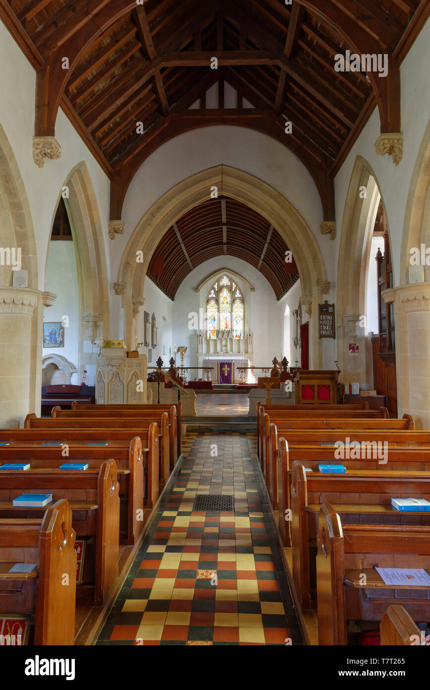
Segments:
[[[219,290],[218,290],[219,288]],[[220,331],[231,331],[234,338],[245,335],[245,303],[236,283],[227,275],[213,284],[206,301],[207,337],[216,338]]]

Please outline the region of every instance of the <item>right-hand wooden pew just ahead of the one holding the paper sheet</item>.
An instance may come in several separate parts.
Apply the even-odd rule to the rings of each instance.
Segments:
[[[293,579],[304,609],[311,607],[320,506],[328,501],[342,520],[380,524],[429,524],[430,514],[396,511],[391,497],[430,499],[430,472],[350,470],[345,474],[305,472],[299,460],[291,471],[291,545]],[[335,502],[336,501],[336,502]]]

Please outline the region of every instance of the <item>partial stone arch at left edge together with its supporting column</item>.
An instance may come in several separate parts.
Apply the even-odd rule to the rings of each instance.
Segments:
[[[20,249],[21,268],[28,271],[28,287],[18,288],[12,265],[0,266],[0,426],[19,426],[28,412],[40,413],[43,304],[30,204],[1,125],[0,245],[14,249],[15,261]]]

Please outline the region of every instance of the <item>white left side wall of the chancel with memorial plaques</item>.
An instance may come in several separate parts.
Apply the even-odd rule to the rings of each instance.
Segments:
[[[147,311],[150,315],[155,314],[156,325],[158,326],[157,331],[157,346],[156,348],[151,348],[151,325],[147,326],[147,339],[150,343],[150,348],[152,349],[152,359],[151,362],[148,361],[148,366],[155,366],[155,362],[158,357],[163,359],[163,366],[169,366],[169,359],[173,355],[173,344],[172,344],[172,322],[173,322],[173,308],[174,303],[172,299],[167,297],[156,284],[152,282],[150,278],[145,278],[145,304],[141,306],[141,311],[139,312],[138,319],[138,337],[139,342],[144,342],[145,328],[143,326],[144,315],[143,312]],[[165,317],[165,319],[163,319]],[[182,343],[177,343],[182,344]],[[132,350],[134,350],[134,343],[127,343]],[[148,348],[142,346],[139,348],[139,352],[147,355]]]

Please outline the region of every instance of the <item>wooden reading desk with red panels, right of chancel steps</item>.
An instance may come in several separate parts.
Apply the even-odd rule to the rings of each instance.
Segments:
[[[296,369],[296,404],[338,404],[339,374],[337,369]]]

